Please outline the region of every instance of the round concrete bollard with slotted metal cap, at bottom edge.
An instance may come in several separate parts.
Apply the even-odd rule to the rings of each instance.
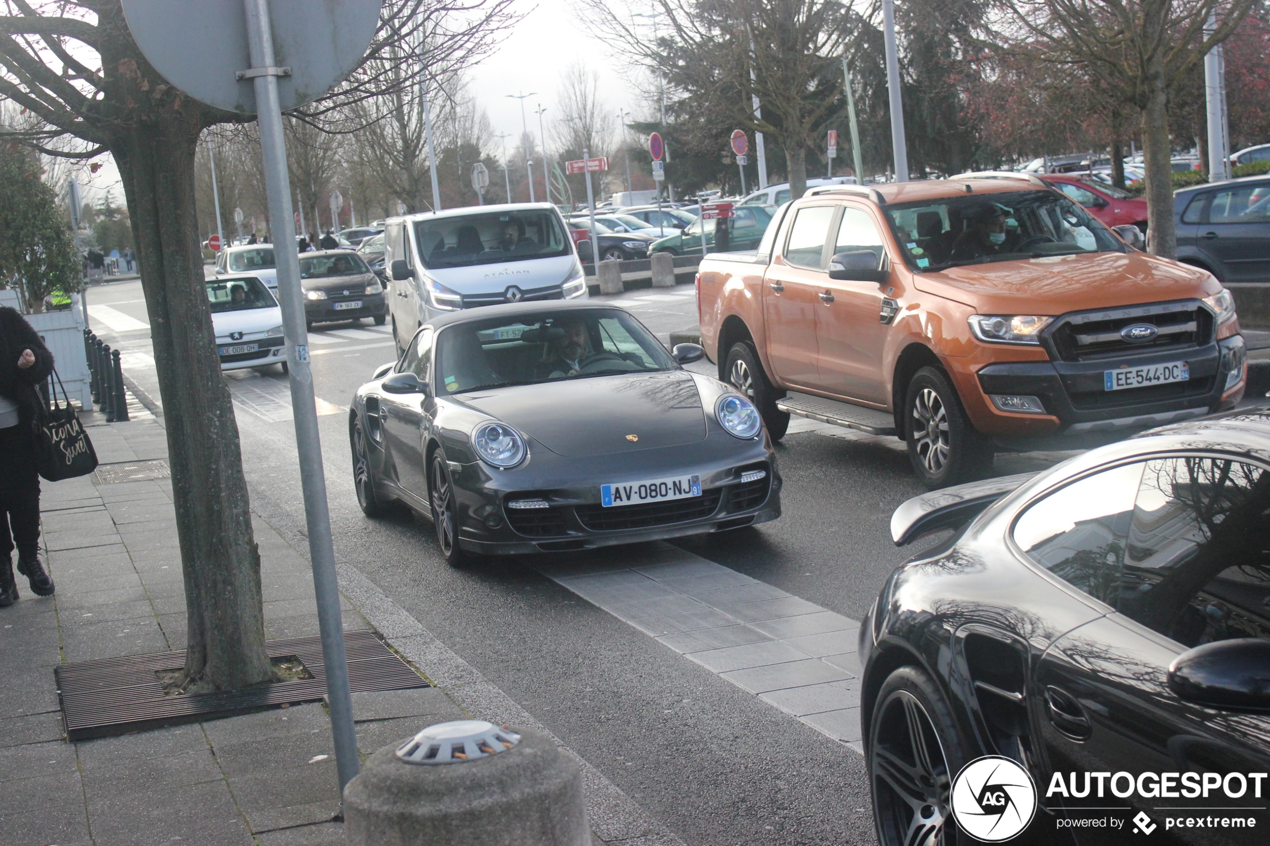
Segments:
[[[349,846],[591,846],[582,772],[551,738],[485,720],[386,746],[344,788]]]

